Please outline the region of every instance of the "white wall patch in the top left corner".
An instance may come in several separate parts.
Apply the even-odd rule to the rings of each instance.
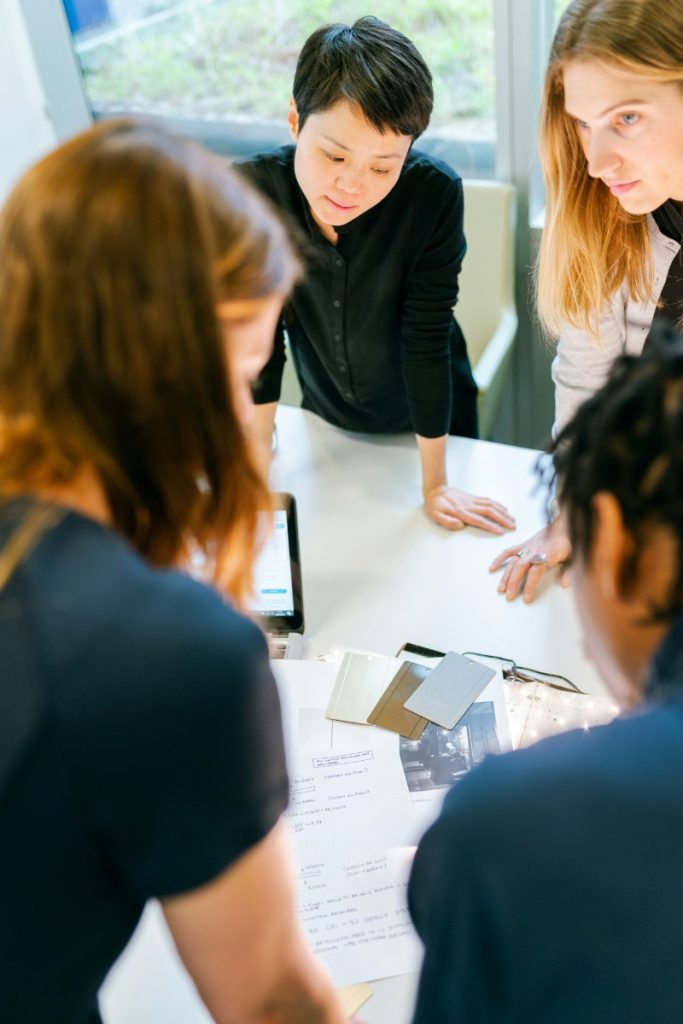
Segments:
[[[18,0],[0,0],[0,202],[55,142]]]

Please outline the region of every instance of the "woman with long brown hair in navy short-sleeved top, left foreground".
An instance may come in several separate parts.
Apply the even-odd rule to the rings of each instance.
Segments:
[[[267,503],[243,434],[298,266],[152,124],[47,156],[0,217],[0,1019],[99,1020],[145,901],[219,1022],[343,1015],[295,920],[280,710],[233,604]],[[241,422],[243,421],[243,422]]]

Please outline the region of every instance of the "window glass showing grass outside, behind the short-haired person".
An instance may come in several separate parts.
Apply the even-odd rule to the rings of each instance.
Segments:
[[[285,117],[304,39],[368,13],[362,0],[63,0],[95,117],[169,118],[214,148],[247,153],[288,139]],[[434,76],[423,148],[463,174],[492,174],[496,117],[490,0],[374,0]]]

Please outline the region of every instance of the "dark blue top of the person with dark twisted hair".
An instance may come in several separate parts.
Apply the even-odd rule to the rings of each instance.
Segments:
[[[683,1007],[683,616],[645,706],[489,757],[410,883],[414,1024],[644,1024]]]

